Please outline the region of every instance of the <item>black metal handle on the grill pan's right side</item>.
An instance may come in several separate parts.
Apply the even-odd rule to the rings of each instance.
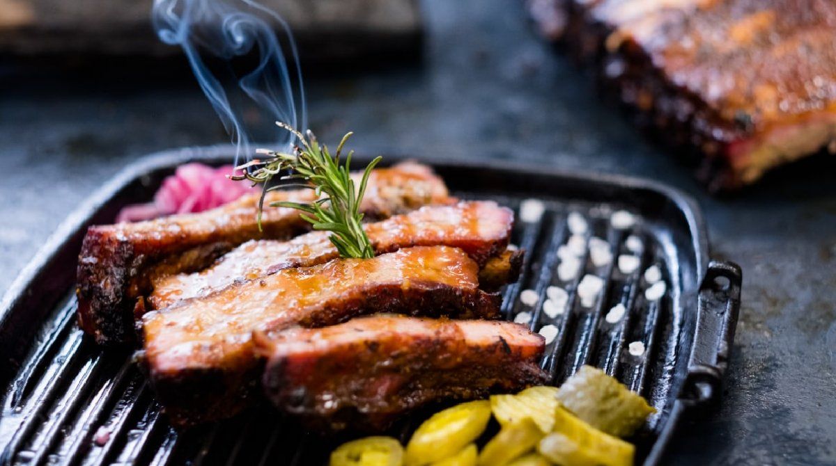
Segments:
[[[700,285],[694,346],[679,398],[686,405],[719,401],[740,312],[742,271],[733,262],[710,261]]]

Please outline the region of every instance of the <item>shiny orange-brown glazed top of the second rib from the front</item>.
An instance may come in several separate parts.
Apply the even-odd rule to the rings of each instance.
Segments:
[[[478,270],[463,251],[436,246],[279,271],[146,314],[145,357],[152,376],[188,368],[237,369],[252,365],[254,331],[332,325],[369,312],[457,309],[460,315],[492,317],[498,302],[482,302]]]

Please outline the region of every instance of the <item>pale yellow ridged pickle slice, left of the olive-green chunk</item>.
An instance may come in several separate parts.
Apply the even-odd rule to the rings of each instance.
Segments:
[[[554,426],[557,394],[557,387],[529,387],[516,395],[493,395],[491,410],[502,426],[531,418],[543,433],[548,433]]]

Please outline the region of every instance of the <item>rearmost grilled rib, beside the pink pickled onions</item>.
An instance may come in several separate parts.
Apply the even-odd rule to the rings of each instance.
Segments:
[[[312,190],[293,190],[268,193],[267,201],[313,199]],[[286,239],[308,230],[298,210],[268,207],[259,232],[257,200],[258,195],[247,195],[199,214],[91,226],[79,255],[79,327],[99,343],[130,341],[135,301],[150,291],[151,281],[200,270],[245,241]],[[372,172],[361,209],[367,218],[386,218],[452,201],[429,168],[404,163]]]

